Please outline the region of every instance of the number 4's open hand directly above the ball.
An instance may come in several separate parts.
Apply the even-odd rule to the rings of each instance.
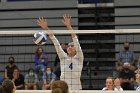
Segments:
[[[46,19],[44,19],[44,17],[39,17],[39,19],[37,20],[37,24],[44,30],[48,30],[48,23]]]

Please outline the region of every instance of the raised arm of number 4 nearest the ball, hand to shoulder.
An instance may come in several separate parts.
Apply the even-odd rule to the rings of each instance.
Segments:
[[[46,19],[44,19],[43,17],[40,17],[39,20],[37,20],[37,24],[39,26],[41,26],[41,28],[46,30],[46,32],[48,33],[50,39],[52,40],[52,42],[55,46],[55,49],[56,49],[56,52],[57,52],[59,58],[63,58],[65,56],[65,52],[61,48],[60,43],[58,42],[56,37],[54,36],[54,33],[49,30],[48,23],[47,23]]]

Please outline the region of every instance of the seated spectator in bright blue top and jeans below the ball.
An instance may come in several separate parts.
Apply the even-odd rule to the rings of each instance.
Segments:
[[[35,66],[39,80],[41,81],[45,67],[47,66],[48,58],[43,52],[42,47],[38,47],[35,55]]]

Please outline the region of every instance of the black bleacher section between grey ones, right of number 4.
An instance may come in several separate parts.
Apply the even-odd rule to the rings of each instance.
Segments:
[[[113,0],[79,0],[79,29],[101,30],[114,29]],[[79,36],[85,60],[89,62],[89,75],[82,74],[83,89],[102,89],[105,79],[113,75],[115,67],[115,35],[114,34],[85,34]],[[83,44],[82,44],[83,43]],[[108,54],[108,55],[106,55]],[[87,69],[85,63],[85,69]],[[86,80],[85,80],[86,79]]]

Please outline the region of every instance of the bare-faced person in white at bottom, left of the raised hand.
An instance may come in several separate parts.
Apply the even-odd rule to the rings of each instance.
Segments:
[[[114,90],[113,78],[112,77],[108,77],[106,79],[106,87],[104,87],[102,90]]]

